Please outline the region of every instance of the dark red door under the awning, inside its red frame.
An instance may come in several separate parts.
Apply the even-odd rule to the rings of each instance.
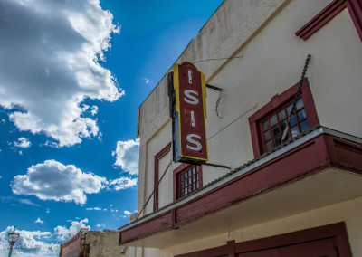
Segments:
[[[278,248],[239,253],[240,257],[338,257],[333,239],[321,239]]]

